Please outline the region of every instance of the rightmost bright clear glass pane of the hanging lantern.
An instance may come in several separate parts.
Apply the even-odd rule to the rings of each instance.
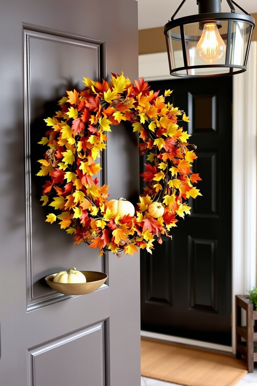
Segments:
[[[251,26],[249,24],[235,21],[232,22],[230,64],[244,66],[250,31]]]

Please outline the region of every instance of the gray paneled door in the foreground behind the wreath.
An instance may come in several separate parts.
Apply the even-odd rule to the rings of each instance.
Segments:
[[[0,52],[0,385],[139,385],[139,257],[73,247],[45,222],[35,176],[42,120],[66,90],[82,89],[83,77],[138,77],[137,2],[2,2]],[[101,177],[112,198],[128,198],[138,189],[136,144],[121,126],[109,137]],[[109,280],[83,296],[45,285],[71,266]]]

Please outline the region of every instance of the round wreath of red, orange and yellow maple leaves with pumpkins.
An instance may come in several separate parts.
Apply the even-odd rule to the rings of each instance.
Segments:
[[[67,91],[59,101],[60,110],[45,119],[50,130],[39,142],[47,145],[44,159],[38,162],[38,176],[48,176],[43,185],[42,205],[57,214],[47,215],[47,222],[57,219],[61,229],[74,235],[74,245],[82,242],[106,250],[133,255],[138,248],[151,253],[155,239],[170,236],[176,217],[190,213],[186,200],[201,195],[192,184],[200,177],[192,173],[193,150],[188,150],[190,135],[178,125],[178,117],[190,122],[186,114],[164,96],[149,90],[143,78],[131,83],[124,74],[112,74],[102,83],[84,78],[81,92]],[[139,155],[147,152],[144,193],[134,207],[124,199],[108,200],[108,185],[99,186],[97,163],[106,149],[111,125],[131,122],[139,132]],[[59,214],[58,214],[59,213]]]

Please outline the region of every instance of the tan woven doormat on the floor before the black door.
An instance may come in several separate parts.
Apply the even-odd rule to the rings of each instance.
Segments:
[[[185,386],[233,386],[247,374],[233,356],[141,339],[141,375]]]

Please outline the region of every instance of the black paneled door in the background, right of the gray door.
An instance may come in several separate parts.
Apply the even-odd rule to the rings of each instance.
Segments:
[[[150,86],[174,90],[170,103],[190,116],[180,124],[197,146],[202,196],[189,200],[172,240],[156,243],[152,256],[141,252],[141,329],[231,345],[232,77]]]

